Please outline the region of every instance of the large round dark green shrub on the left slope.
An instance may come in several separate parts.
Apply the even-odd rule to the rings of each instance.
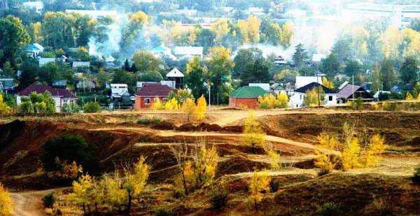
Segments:
[[[95,157],[92,148],[80,136],[59,136],[50,138],[43,145],[41,161],[45,171],[62,171],[62,166],[57,166],[57,158],[67,164],[76,161],[88,173],[99,173],[99,160]]]

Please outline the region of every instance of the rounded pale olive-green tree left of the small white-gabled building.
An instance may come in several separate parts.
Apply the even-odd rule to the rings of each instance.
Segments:
[[[163,64],[162,60],[157,59],[150,52],[146,51],[134,52],[132,61],[136,64],[140,73],[157,72],[159,71],[160,65]]]

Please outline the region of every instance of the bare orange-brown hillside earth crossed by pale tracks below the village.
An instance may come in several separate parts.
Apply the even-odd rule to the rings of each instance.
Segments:
[[[2,117],[1,180],[9,189],[18,191],[50,189],[50,182],[36,174],[41,167],[39,156],[43,144],[55,136],[78,134],[92,145],[104,172],[113,171],[125,161],[135,161],[141,155],[147,157],[152,167],[151,185],[142,206],[134,207],[139,215],[152,214],[162,203],[181,215],[247,215],[246,212],[248,215],[300,215],[314,213],[325,202],[338,203],[344,213],[369,214],[367,210],[378,199],[383,199],[387,208],[395,206],[398,213],[420,214],[420,200],[416,196],[420,189],[410,180],[414,166],[420,164],[420,113],[325,109],[256,110],[254,113],[286,166],[269,173],[279,179],[280,189],[265,195],[258,213],[246,202],[246,179],[250,171],[269,168],[269,157],[263,150],[251,154],[251,147],[241,143],[242,125],[248,115],[244,110],[211,110],[205,124],[189,124],[186,115],[166,111]],[[143,117],[162,117],[164,122],[137,124]],[[314,145],[316,136],[321,131],[339,133],[344,122],[356,123],[360,134],[385,136],[389,145],[386,157],[379,168],[318,176],[313,163],[314,152],[319,150]],[[216,181],[227,182],[230,191],[228,206],[223,211],[211,209],[204,190],[180,200],[172,196],[172,187],[165,186],[173,183],[176,173],[169,146],[195,145],[203,138],[209,145],[215,145],[221,156]],[[13,196],[16,203],[21,203],[19,193]]]

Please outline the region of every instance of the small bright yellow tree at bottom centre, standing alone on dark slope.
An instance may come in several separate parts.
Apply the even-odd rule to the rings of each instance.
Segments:
[[[266,171],[253,172],[251,179],[248,181],[249,196],[248,200],[253,204],[255,210],[258,210],[258,203],[264,198],[262,192],[269,192],[270,178]]]

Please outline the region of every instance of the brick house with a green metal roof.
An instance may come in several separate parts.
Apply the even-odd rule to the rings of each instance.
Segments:
[[[230,108],[256,108],[258,106],[258,96],[268,94],[259,86],[244,86],[235,89],[229,95]]]

